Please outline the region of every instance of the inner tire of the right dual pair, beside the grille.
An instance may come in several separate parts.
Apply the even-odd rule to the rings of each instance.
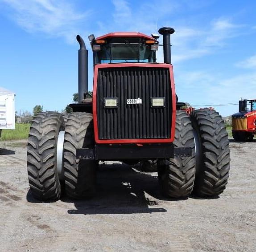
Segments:
[[[172,198],[188,197],[195,179],[194,134],[189,116],[185,111],[177,110],[175,124],[175,147],[191,147],[191,156],[176,156],[157,165],[161,191]],[[164,162],[164,163],[162,163]]]

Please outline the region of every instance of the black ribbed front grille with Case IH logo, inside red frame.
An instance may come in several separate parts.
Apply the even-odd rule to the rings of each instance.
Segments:
[[[99,68],[97,81],[99,139],[170,138],[169,68]],[[165,107],[151,107],[152,97],[164,97]],[[118,108],[104,108],[103,98],[118,98]],[[127,104],[137,98],[141,104]]]

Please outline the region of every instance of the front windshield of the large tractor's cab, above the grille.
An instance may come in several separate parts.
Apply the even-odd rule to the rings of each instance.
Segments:
[[[155,51],[141,43],[110,43],[95,53],[96,63],[156,62]]]

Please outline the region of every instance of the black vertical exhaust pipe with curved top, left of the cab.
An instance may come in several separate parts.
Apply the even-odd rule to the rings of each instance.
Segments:
[[[76,40],[80,45],[78,50],[78,102],[81,103],[84,93],[88,91],[88,50],[82,37],[77,35]]]

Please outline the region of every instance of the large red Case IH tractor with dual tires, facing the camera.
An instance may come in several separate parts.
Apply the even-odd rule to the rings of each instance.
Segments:
[[[180,110],[171,65],[170,35],[108,33],[89,36],[93,51],[93,95],[88,97],[87,55],[79,35],[78,97],[71,114],[43,112],[32,121],[27,167],[33,196],[74,199],[96,192],[99,161],[127,164],[153,160],[164,195],[187,197],[223,192],[230,150],[224,122],[214,110]],[[157,63],[158,46],[164,62]],[[61,187],[61,184],[63,185]]]

